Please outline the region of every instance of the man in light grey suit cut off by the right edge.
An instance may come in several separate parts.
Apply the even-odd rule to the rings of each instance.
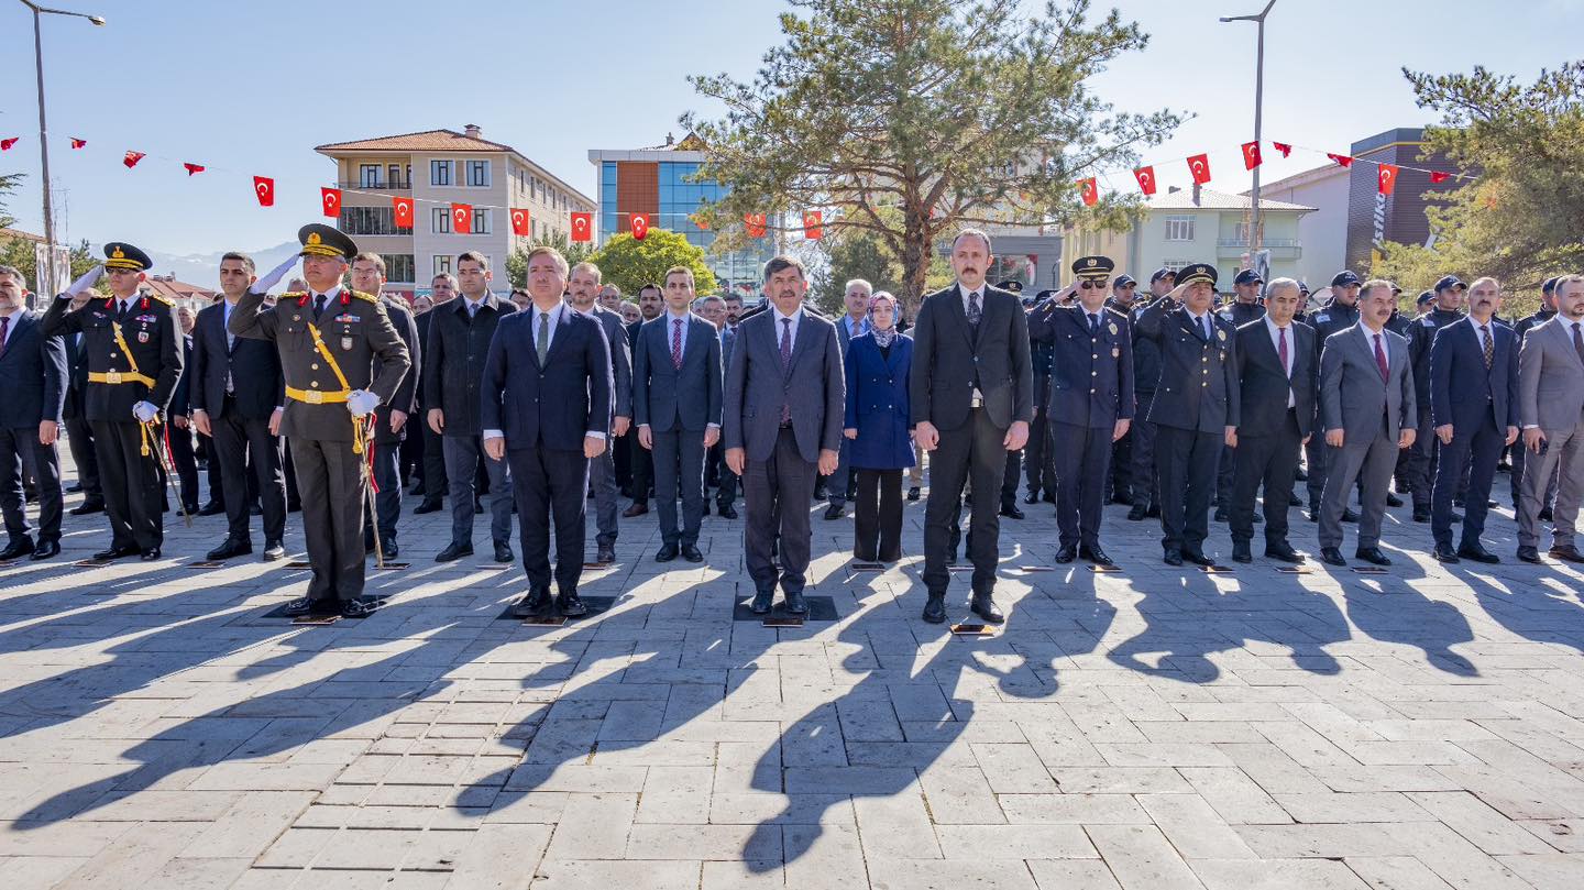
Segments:
[[[1517,557],[1540,562],[1538,518],[1546,483],[1560,466],[1551,556],[1584,562],[1573,543],[1584,497],[1584,276],[1557,280],[1557,315],[1532,328],[1517,353],[1517,421],[1524,428]]]

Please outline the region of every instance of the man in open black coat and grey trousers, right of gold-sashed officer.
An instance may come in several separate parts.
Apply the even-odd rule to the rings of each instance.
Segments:
[[[474,554],[475,474],[483,450],[480,385],[494,333],[501,320],[516,312],[516,306],[489,293],[494,272],[483,253],[459,255],[456,276],[463,295],[429,310],[423,356],[423,402],[429,405],[425,423],[439,434],[451,489],[451,542],[434,556],[436,562]],[[483,461],[489,478],[489,540],[494,561],[507,564],[512,562],[512,478],[505,461],[488,455]]]

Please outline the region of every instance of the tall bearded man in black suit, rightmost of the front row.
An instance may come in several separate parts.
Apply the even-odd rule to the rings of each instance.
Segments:
[[[923,516],[923,583],[930,599],[923,619],[946,621],[950,583],[952,521],[973,481],[973,611],[992,624],[1004,621],[995,605],[1000,554],[1000,504],[1006,453],[1028,442],[1034,413],[1034,369],[1028,318],[1019,298],[985,285],[990,236],[963,230],[952,244],[957,283],[919,306],[909,377],[914,439],[930,451],[930,502]]]

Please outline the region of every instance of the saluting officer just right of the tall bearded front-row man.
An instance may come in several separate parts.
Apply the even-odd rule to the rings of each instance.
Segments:
[[[1099,548],[1101,507],[1110,448],[1133,423],[1133,331],[1128,317],[1106,309],[1106,285],[1115,263],[1080,257],[1077,304],[1052,310],[1039,321],[1052,344],[1050,447],[1057,458],[1057,562],[1082,556],[1112,565]],[[1033,336],[1033,334],[1031,334]]]

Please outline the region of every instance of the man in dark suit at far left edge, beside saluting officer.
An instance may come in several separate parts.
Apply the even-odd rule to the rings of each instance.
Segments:
[[[8,542],[0,561],[60,553],[60,412],[67,397],[67,345],[46,337],[27,309],[27,279],[0,266],[0,512]],[[22,480],[38,486],[38,540],[27,524]]]

